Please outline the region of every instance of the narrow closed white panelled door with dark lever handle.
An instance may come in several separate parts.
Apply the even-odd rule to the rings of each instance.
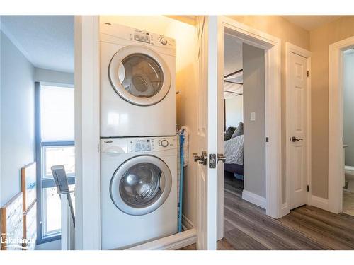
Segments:
[[[308,59],[290,52],[289,95],[289,175],[290,209],[307,204],[307,124],[308,124]]]

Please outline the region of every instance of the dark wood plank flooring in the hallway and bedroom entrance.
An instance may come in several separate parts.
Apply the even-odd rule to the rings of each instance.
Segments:
[[[217,249],[354,249],[354,216],[302,206],[273,219],[241,192],[242,182],[225,176],[224,238]]]

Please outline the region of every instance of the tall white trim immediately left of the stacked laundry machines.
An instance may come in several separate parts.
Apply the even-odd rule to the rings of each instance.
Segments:
[[[75,16],[75,249],[101,249],[98,16]]]

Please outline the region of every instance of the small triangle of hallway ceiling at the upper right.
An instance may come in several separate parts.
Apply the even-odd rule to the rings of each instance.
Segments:
[[[291,23],[298,25],[305,30],[315,30],[326,23],[341,18],[341,16],[282,16]]]

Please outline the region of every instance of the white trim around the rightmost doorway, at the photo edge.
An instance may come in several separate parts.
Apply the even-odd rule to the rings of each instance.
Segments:
[[[329,45],[329,201],[341,213],[343,198],[343,51],[354,47],[354,36]]]

